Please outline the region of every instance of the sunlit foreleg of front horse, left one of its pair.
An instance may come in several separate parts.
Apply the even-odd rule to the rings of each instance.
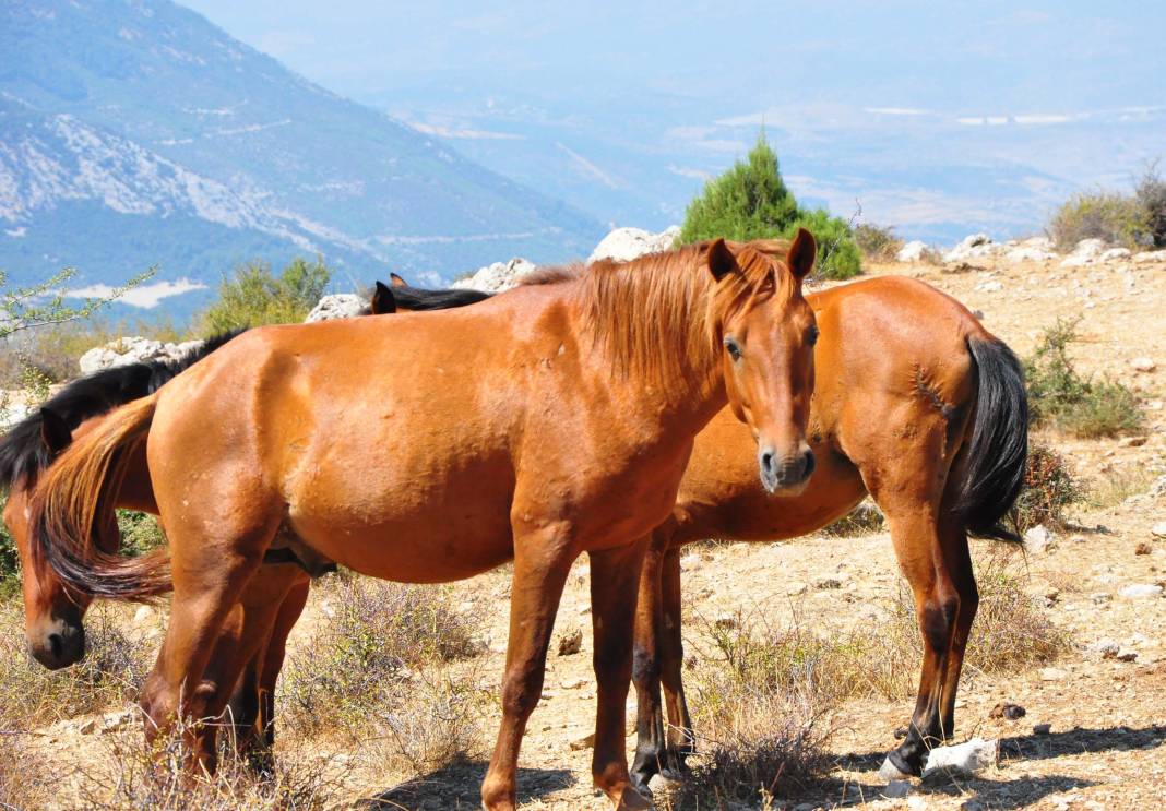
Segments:
[[[482,782],[482,805],[486,811],[517,808],[519,748],[527,719],[542,694],[550,632],[573,562],[574,555],[561,533],[545,530],[541,537],[531,534],[515,537],[503,720]]]

